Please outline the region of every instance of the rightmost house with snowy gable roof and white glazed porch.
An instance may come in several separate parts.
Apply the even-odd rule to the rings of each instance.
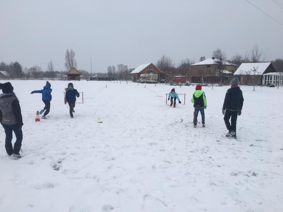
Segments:
[[[281,75],[271,62],[242,63],[233,74],[238,77],[242,85],[269,85],[277,84]],[[282,83],[282,82],[281,82]]]

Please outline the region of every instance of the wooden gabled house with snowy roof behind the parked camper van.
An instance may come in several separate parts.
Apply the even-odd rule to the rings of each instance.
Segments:
[[[131,73],[132,82],[136,82],[141,74],[158,74],[158,81],[165,79],[167,74],[163,71],[160,71],[153,63],[141,64],[136,67]]]

